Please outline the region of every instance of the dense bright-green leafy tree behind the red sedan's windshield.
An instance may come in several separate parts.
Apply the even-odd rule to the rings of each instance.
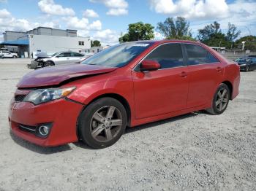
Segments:
[[[138,40],[154,39],[154,26],[138,22],[129,24],[128,33],[119,38],[119,42],[130,42]]]

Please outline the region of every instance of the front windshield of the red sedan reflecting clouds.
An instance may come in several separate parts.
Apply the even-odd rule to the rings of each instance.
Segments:
[[[128,42],[109,47],[87,58],[82,64],[122,67],[140,55],[152,42]]]

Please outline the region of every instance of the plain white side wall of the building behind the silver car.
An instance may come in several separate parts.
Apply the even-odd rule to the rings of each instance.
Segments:
[[[84,45],[79,45],[79,41],[83,41]],[[67,50],[84,52],[84,50],[90,48],[91,40],[88,37],[29,35],[29,52],[37,52],[37,50],[41,52]]]

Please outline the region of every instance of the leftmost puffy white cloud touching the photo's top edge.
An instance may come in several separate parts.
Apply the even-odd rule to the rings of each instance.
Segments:
[[[49,15],[75,15],[71,8],[64,8],[61,4],[55,4],[53,0],[40,0],[38,2],[39,9]]]

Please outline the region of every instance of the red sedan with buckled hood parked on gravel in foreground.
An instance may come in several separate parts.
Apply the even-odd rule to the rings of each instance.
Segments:
[[[239,82],[239,66],[200,42],[128,42],[75,66],[26,74],[9,121],[34,144],[81,140],[98,149],[118,141],[127,126],[202,109],[222,114]]]

